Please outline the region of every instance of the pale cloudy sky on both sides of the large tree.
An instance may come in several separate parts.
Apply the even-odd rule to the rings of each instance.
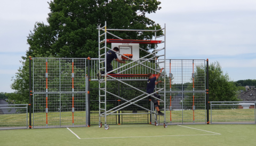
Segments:
[[[146,16],[166,24],[166,59],[218,61],[231,80],[256,79],[255,0],[158,0]],[[12,77],[29,45],[35,22],[50,12],[48,0],[3,1],[0,5],[0,92],[14,92]]]

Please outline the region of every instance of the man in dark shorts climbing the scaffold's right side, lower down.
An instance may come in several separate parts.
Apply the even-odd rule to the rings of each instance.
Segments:
[[[164,69],[164,68],[161,68],[160,72],[162,72],[163,69]],[[156,77],[154,77],[152,73],[149,73],[149,74],[148,74],[148,83],[147,83],[147,93],[148,93],[148,94],[154,93],[155,85],[157,85],[158,83],[161,83],[161,82],[162,82],[161,80],[159,80],[158,82],[156,82],[156,80],[160,77],[160,75],[161,75],[161,74],[158,73],[158,74],[156,75]],[[158,98],[158,99],[161,98],[161,96],[158,95],[158,94],[156,94],[156,93],[153,94],[153,95],[151,95],[151,96],[155,96],[155,97]],[[155,99],[155,98],[153,98],[153,97],[151,97],[151,96],[149,96],[149,99],[154,103],[154,107],[155,107],[156,110],[157,110],[157,115],[161,115],[161,116],[164,115],[164,113],[159,110],[160,101],[157,100],[157,99]]]

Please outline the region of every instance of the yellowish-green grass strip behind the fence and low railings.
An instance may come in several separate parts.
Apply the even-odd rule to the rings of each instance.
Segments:
[[[98,125],[99,113],[98,111],[93,111],[96,113],[91,114],[91,123]],[[180,124],[182,123],[182,111],[172,111],[172,123]],[[26,113],[0,115],[0,127],[2,126],[25,126],[26,125]],[[72,112],[49,112],[48,113],[48,125],[55,126],[59,125],[59,117],[61,116],[61,125],[70,126],[72,125]],[[195,110],[195,121],[196,123],[205,122],[205,110]],[[111,120],[111,118],[117,117],[116,115],[108,116],[108,124],[116,124],[116,120]],[[193,123],[193,110],[183,111],[183,123]],[[211,118],[211,117],[210,117]],[[46,113],[34,113],[35,126],[45,126],[46,125]],[[122,124],[134,124],[135,121],[141,119],[142,123],[148,122],[148,115],[124,115],[123,119],[120,116]],[[143,119],[143,120],[142,120]],[[160,123],[164,122],[164,117],[160,116]],[[101,118],[104,121],[104,117]],[[153,118],[154,121],[154,118]],[[170,111],[166,111],[166,121],[170,123]],[[222,122],[231,123],[233,121],[237,122],[253,122],[254,121],[254,109],[230,109],[230,110],[212,110],[212,122]],[[28,121],[29,122],[29,121]],[[74,124],[75,125],[85,125],[85,111],[74,112]]]

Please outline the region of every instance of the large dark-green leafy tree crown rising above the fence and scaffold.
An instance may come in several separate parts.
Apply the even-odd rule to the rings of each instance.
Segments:
[[[17,103],[28,103],[29,56],[58,58],[98,58],[98,26],[111,29],[161,29],[161,26],[146,17],[146,13],[160,10],[156,0],[54,0],[49,2],[50,13],[45,25],[36,22],[33,31],[27,37],[29,49],[22,56],[22,67],[19,68],[11,85],[16,94],[12,100]],[[112,31],[123,39],[151,39],[152,32]],[[161,35],[158,31],[157,35]],[[108,38],[113,36],[108,35]],[[101,38],[101,40],[103,37]],[[154,45],[140,45],[151,50]],[[145,55],[145,52],[140,52]],[[150,57],[150,56],[149,56]]]

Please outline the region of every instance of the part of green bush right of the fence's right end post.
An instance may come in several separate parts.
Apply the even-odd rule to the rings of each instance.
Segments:
[[[220,63],[213,62],[209,66],[210,101],[238,101],[237,87],[231,82],[228,74],[223,74]]]

